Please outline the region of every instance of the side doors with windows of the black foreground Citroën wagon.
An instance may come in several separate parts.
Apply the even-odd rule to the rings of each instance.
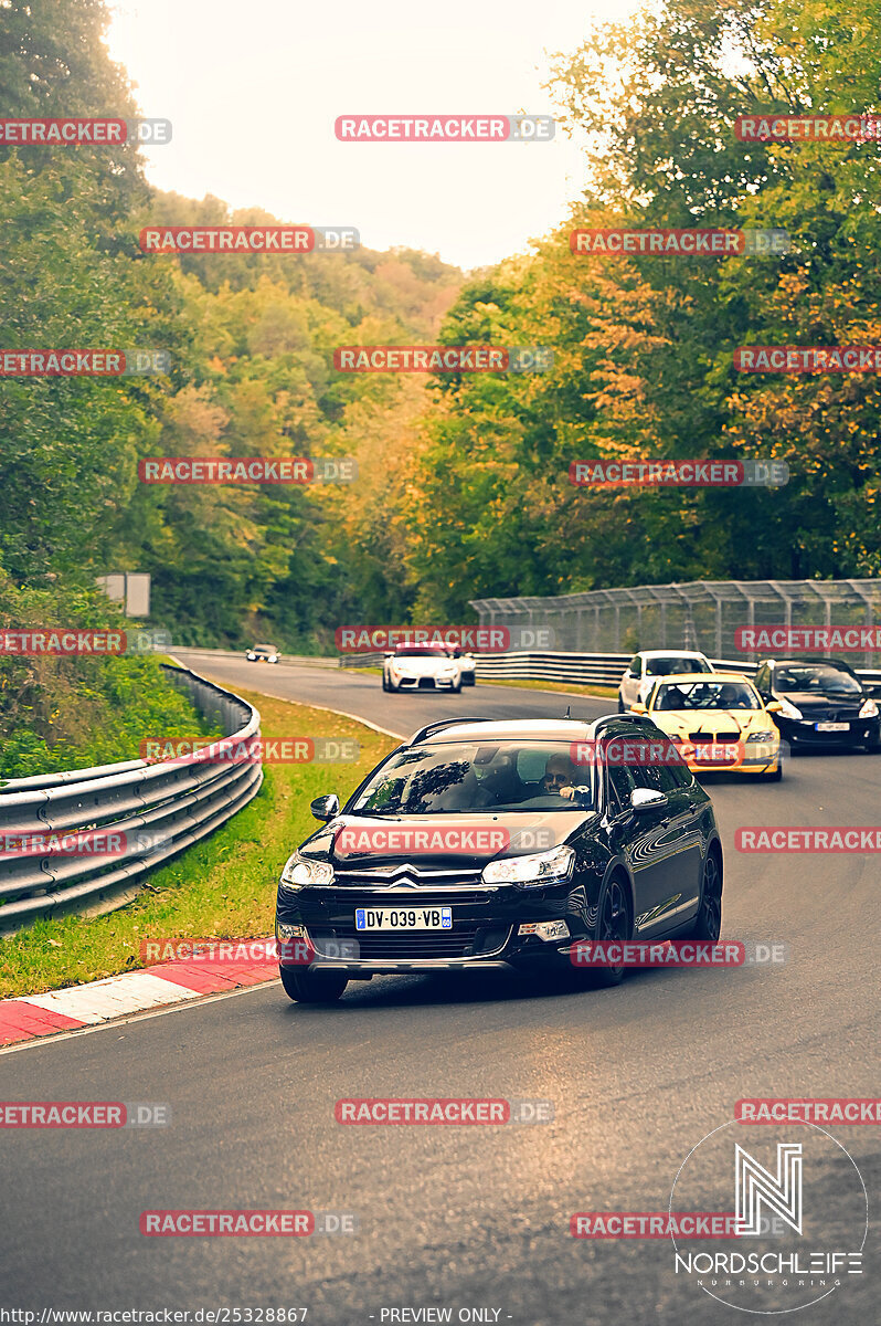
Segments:
[[[637,912],[637,936],[649,939],[672,930],[697,906],[701,890],[701,825],[692,796],[693,778],[678,765],[636,765],[637,786],[661,792],[664,805],[641,812],[653,819],[652,869],[645,879],[645,896]]]

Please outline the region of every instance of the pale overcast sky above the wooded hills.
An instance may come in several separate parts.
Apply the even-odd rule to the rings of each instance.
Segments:
[[[110,52],[172,121],[150,180],[472,268],[559,223],[584,164],[550,143],[342,143],[342,114],[550,114],[546,52],[635,0],[119,0]]]

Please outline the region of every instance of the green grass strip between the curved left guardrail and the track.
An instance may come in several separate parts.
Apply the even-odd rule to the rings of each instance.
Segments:
[[[238,691],[261,713],[264,737],[350,737],[356,764],[277,764],[265,768],[254,800],[204,842],[147,876],[148,888],[107,916],[37,922],[0,940],[0,994],[36,994],[148,967],[144,940],[238,939],[270,935],[276,884],[293,849],[318,827],[309,802],[327,792],[343,801],[397,745],[350,719],[268,695]]]

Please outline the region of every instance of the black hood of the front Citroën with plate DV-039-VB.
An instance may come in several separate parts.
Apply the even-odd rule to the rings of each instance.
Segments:
[[[595,815],[595,810],[476,810],[393,819],[338,815],[309,838],[302,850],[339,870],[404,862],[433,870],[478,869],[495,857],[550,851]],[[417,831],[429,834],[428,841],[416,838]]]

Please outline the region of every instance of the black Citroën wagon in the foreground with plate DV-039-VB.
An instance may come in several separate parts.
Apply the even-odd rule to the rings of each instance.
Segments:
[[[325,825],[278,884],[287,994],[325,1002],[380,973],[572,968],[586,939],[718,939],[710,798],[678,756],[605,758],[633,737],[670,745],[635,715],[448,719],[387,756],[342,810],[335,796],[313,801]],[[586,749],[596,757],[580,761]]]

